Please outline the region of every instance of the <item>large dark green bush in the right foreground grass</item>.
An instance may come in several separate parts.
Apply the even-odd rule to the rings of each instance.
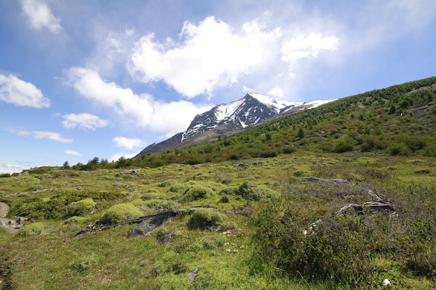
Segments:
[[[254,220],[252,236],[254,260],[252,266],[274,266],[306,280],[331,280],[357,288],[375,281],[375,266],[368,244],[371,228],[359,218],[332,216],[313,223],[305,232],[304,218],[292,209],[283,212],[277,204],[268,204]],[[305,234],[306,233],[306,234]],[[298,276],[299,276],[298,275]]]

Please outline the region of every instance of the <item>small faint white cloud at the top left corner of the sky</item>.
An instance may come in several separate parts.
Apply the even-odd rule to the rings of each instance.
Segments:
[[[40,30],[47,27],[54,33],[62,30],[61,19],[54,17],[45,1],[22,0],[21,5],[23,14],[32,29]]]

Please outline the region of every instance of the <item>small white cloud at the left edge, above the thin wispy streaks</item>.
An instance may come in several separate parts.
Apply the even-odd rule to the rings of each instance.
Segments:
[[[17,76],[0,74],[0,101],[17,106],[48,108],[50,101],[32,83],[22,81]]]

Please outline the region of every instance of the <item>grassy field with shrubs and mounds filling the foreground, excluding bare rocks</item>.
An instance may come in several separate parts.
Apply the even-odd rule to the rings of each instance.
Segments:
[[[377,289],[389,279],[390,289],[432,289],[435,175],[433,157],[297,151],[0,178],[9,216],[31,218],[16,234],[0,229],[0,287]],[[349,184],[304,181],[309,176]],[[347,204],[375,201],[361,188],[386,195],[395,211],[338,215]],[[190,227],[194,215],[182,214],[148,236],[127,238],[135,225],[75,236],[116,204],[144,216],[208,205],[221,214],[221,231]],[[313,223],[320,229],[304,235]]]

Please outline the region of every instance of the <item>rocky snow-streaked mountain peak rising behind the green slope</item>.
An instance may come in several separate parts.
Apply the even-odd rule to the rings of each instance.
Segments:
[[[165,152],[228,136],[237,131],[253,127],[256,124],[289,115],[306,108],[315,108],[331,101],[287,102],[276,101],[265,95],[247,93],[242,99],[228,104],[219,104],[210,111],[196,115],[186,131],[161,142],[144,148],[137,156],[148,153]]]

